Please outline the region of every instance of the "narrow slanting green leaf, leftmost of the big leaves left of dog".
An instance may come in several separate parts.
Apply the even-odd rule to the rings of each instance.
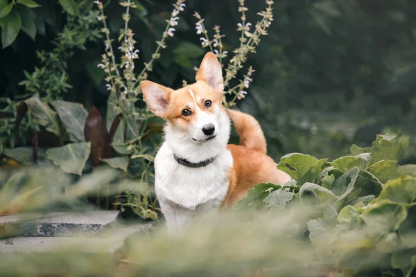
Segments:
[[[58,114],[48,104],[42,102],[37,93],[35,96],[24,100],[24,102],[28,105],[28,111],[38,124],[44,126],[47,131],[61,137]]]

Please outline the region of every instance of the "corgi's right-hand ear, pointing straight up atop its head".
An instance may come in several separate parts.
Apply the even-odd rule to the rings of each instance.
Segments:
[[[206,82],[209,87],[223,93],[223,69],[213,53],[209,52],[205,55],[201,62],[198,74],[196,75],[196,80]]]

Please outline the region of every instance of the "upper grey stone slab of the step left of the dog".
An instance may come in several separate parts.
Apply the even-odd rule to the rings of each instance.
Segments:
[[[0,235],[10,235],[12,231],[42,237],[94,235],[114,224],[119,215],[119,211],[5,215],[0,217]]]

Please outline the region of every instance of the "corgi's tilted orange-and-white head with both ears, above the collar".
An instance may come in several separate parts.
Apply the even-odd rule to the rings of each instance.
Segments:
[[[222,69],[213,53],[205,55],[196,82],[187,87],[173,90],[154,82],[141,82],[148,107],[168,123],[166,136],[172,134],[172,139],[180,139],[182,144],[214,148],[226,145],[229,138],[229,118],[222,106],[223,90]]]

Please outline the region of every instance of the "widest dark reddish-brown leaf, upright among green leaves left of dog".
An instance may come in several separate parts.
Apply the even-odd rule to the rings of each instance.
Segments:
[[[105,121],[96,107],[92,107],[84,126],[85,140],[91,142],[92,163],[94,166],[100,164],[101,159],[111,156],[110,136],[105,127]]]

